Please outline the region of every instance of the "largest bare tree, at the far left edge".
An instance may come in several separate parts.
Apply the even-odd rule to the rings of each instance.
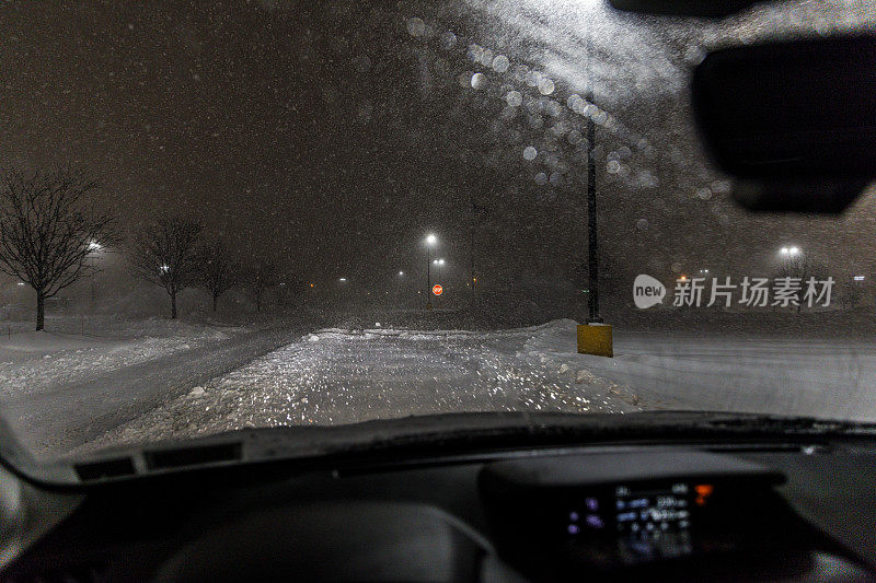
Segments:
[[[95,245],[118,242],[113,220],[95,212],[97,184],[82,171],[0,172],[0,271],[36,291],[36,329],[46,298],[96,271]]]

